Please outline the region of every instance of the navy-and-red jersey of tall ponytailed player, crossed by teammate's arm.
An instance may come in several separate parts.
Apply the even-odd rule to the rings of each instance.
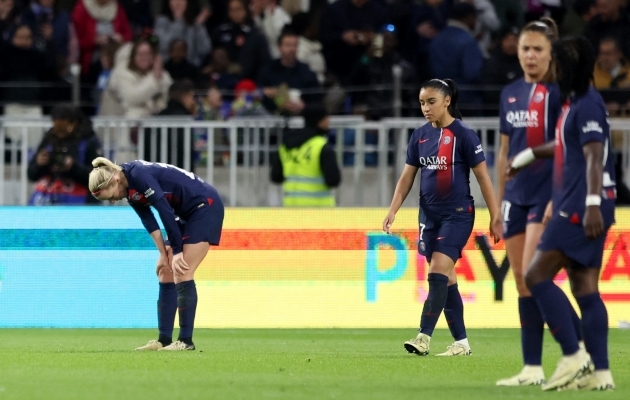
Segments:
[[[560,91],[555,84],[519,79],[506,86],[501,92],[499,120],[501,134],[509,137],[508,158],[552,141],[560,108]],[[518,205],[546,204],[551,198],[552,168],[550,159],[534,161],[505,183],[503,199]]]

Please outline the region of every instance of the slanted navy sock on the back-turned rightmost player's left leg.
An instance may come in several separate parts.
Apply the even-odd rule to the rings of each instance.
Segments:
[[[562,354],[568,356],[578,351],[577,334],[571,320],[571,303],[567,295],[552,280],[540,282],[530,291],[551,335],[560,343]]]

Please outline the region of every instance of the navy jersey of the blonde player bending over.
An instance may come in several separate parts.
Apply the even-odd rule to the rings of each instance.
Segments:
[[[146,230],[159,225],[151,212],[153,206],[164,224],[173,254],[182,251],[182,236],[176,218],[186,220],[201,204],[212,205],[219,195],[210,184],[192,172],[169,164],[131,161],[121,165],[129,184],[127,201]]]

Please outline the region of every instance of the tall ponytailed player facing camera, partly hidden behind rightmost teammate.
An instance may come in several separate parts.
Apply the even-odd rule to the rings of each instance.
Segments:
[[[527,147],[553,141],[555,122],[561,109],[560,90],[555,84],[551,45],[558,37],[551,18],[527,24],[519,35],[518,58],[524,77],[501,93],[501,146],[498,159],[503,239],[518,292],[521,321],[523,369],[515,376],[497,381],[499,386],[540,385],[545,380],[541,366],[544,321],[536,301],[525,285],[529,265],[542,235],[545,208],[551,199],[552,160],[537,160],[511,181],[505,181],[508,158]],[[580,321],[571,315],[581,340]]]

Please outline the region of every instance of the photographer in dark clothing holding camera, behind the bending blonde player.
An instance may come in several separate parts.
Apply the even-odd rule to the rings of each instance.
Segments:
[[[55,106],[51,118],[53,127],[28,165],[28,179],[35,182],[29,205],[99,203],[87,188],[91,160],[103,155],[92,123],[70,105]]]

